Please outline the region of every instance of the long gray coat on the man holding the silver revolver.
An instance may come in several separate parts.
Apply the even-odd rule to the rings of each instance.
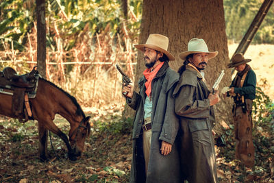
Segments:
[[[186,66],[174,90],[175,112],[180,117],[179,151],[182,173],[190,183],[214,183],[216,158],[212,125],[214,111],[210,90],[200,73]]]

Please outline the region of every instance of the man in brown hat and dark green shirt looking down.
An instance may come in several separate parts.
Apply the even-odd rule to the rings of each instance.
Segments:
[[[252,167],[254,164],[255,149],[252,141],[252,100],[256,97],[256,74],[247,64],[250,59],[245,59],[242,53],[236,53],[232,62],[227,66],[238,71],[229,86],[227,96],[234,98],[233,117],[236,140],[236,158],[242,164]]]

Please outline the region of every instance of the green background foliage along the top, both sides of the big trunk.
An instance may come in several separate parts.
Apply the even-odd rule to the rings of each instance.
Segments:
[[[0,3],[0,42],[8,42],[10,47],[23,51],[27,42],[27,33],[32,32],[36,21],[34,0],[9,0]],[[256,16],[262,1],[224,0],[226,31],[229,40],[242,39],[251,21]],[[142,1],[129,1],[129,19],[123,16],[119,0],[49,0],[46,1],[47,47],[56,49],[60,36],[66,51],[75,47],[79,36],[88,28],[88,36],[94,44],[97,34],[109,29],[109,34],[117,41],[119,34],[125,34],[127,27],[129,38],[138,38]],[[272,43],[274,40],[274,10],[271,8],[262,22],[253,42]],[[59,31],[56,32],[55,29]],[[3,50],[3,45],[0,45]]]

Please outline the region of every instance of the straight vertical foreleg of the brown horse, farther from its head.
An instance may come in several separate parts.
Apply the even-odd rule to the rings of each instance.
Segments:
[[[39,157],[40,160],[47,160],[47,136],[48,130],[42,125],[38,123],[38,131],[39,131]]]

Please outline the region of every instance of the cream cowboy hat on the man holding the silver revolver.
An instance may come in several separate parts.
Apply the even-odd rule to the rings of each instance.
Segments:
[[[188,42],[188,51],[179,53],[179,58],[186,60],[186,57],[192,53],[208,53],[208,60],[218,55],[218,51],[208,51],[208,46],[203,39],[192,38]]]

